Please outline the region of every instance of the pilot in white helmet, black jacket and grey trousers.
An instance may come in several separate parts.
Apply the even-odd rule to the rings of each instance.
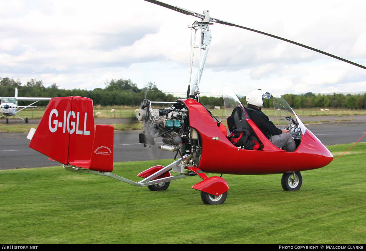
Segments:
[[[259,130],[272,142],[273,145],[286,151],[295,151],[296,144],[289,130],[277,128],[272,121],[269,121],[261,107],[263,106],[263,91],[260,89],[251,90],[246,97],[248,107],[246,112]]]

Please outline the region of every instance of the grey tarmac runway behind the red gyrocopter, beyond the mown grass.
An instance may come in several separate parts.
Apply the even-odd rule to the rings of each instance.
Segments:
[[[366,132],[366,116],[301,117],[302,121],[329,120],[322,124],[305,125],[325,145],[353,143]],[[343,121],[342,121],[343,120]],[[13,122],[13,121],[12,121]],[[20,121],[19,121],[20,122]],[[30,120],[38,123],[39,120]],[[20,122],[21,123],[21,122]],[[95,124],[126,123],[123,119],[99,119]],[[114,162],[173,159],[175,153],[158,149],[161,139],[149,149],[138,143],[140,131],[115,131]],[[0,169],[55,166],[46,156],[28,147],[29,140],[24,132],[0,132]],[[366,136],[360,142],[366,142]],[[346,151],[347,149],[344,149]]]

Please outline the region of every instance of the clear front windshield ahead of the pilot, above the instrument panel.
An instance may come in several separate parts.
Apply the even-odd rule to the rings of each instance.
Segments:
[[[280,94],[273,94],[273,108],[275,108],[277,124],[279,125],[279,127],[280,124],[299,124],[302,135],[305,134],[306,127],[296,115],[294,110],[292,110],[287,101]]]

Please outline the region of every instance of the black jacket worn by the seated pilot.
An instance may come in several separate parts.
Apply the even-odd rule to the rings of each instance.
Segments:
[[[250,119],[253,120],[259,130],[261,130],[267,138],[270,138],[272,135],[280,135],[282,133],[282,130],[277,128],[272,121],[269,121],[268,116],[262,112],[261,108],[248,105],[245,110]]]

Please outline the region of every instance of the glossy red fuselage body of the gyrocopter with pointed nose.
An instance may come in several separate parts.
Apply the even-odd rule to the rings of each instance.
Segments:
[[[201,104],[193,99],[182,101],[188,108],[189,126],[201,137],[198,168],[203,172],[242,175],[299,172],[321,168],[333,160],[329,150],[308,129],[297,149],[286,152],[274,146],[249,118],[247,122],[264,147],[261,151],[240,149],[223,135]]]

